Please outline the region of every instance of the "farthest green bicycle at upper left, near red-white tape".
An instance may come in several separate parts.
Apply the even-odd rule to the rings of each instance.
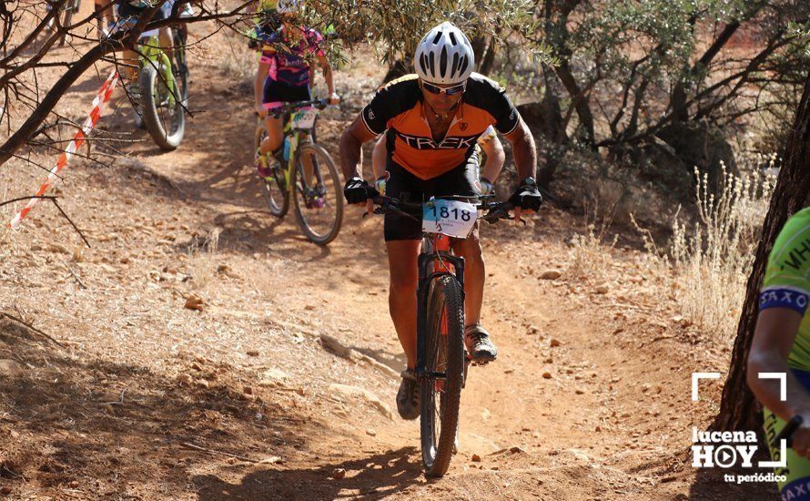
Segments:
[[[186,131],[185,109],[188,106],[188,65],[185,26],[171,28],[174,48],[172,57],[160,48],[157,36],[138,41],[138,87],[136,122],[143,126],[158,147],[176,149]],[[172,61],[174,59],[174,61]],[[137,123],[140,127],[141,124]]]

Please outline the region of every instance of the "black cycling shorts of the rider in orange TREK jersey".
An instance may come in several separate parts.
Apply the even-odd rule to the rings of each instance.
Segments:
[[[386,170],[389,179],[385,182],[385,195],[394,199],[402,199],[402,194],[408,194],[407,201],[419,203],[430,197],[456,196],[478,197],[481,195],[478,183],[478,154],[473,152],[467,160],[458,167],[431,179],[420,179],[408,170],[388,158]],[[386,214],[384,225],[385,241],[390,240],[421,240],[422,225],[420,221],[412,220],[401,214]]]

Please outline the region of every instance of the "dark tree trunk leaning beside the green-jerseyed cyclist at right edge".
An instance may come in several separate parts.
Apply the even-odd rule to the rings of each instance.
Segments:
[[[785,149],[785,163],[779,170],[774,197],[763,223],[762,238],[756,250],[754,270],[748,278],[743,313],[737,327],[728,379],[720,401],[720,412],[710,426],[712,430],[754,430],[760,424],[754,394],[745,383],[745,366],[754,338],[759,312],[759,287],[768,253],[785,221],[797,210],[810,205],[810,76],[805,80],[805,91]]]

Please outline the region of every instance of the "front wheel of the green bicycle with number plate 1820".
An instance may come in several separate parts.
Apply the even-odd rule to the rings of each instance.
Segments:
[[[343,223],[343,187],[326,149],[304,143],[296,155],[292,186],[296,216],[309,240],[326,245],[337,238]]]

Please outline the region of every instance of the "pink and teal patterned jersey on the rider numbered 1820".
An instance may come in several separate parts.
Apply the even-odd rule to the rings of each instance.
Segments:
[[[307,27],[294,28],[297,42],[290,41],[284,26],[262,37],[261,63],[270,67],[268,78],[291,87],[309,86],[309,61],[324,56],[323,36]]]

